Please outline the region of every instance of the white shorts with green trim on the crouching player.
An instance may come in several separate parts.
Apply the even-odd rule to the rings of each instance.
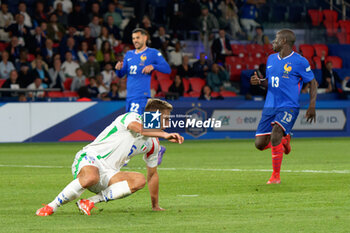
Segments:
[[[74,162],[72,164],[72,174],[74,179],[77,178],[80,170],[85,166],[97,167],[100,174],[100,180],[97,184],[88,188],[93,193],[99,193],[108,187],[109,180],[119,172],[119,170],[107,167],[103,160],[97,158],[92,152],[79,151],[75,155]]]

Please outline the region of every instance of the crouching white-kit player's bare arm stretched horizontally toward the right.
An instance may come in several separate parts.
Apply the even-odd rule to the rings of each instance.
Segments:
[[[184,138],[178,133],[167,133],[163,130],[145,131],[143,130],[142,124],[140,124],[137,121],[131,122],[128,125],[128,129],[146,137],[164,138],[170,142],[179,143],[179,144],[182,144],[184,142]]]

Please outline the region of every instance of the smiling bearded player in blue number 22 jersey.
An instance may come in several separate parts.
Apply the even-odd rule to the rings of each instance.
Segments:
[[[132,32],[134,50],[125,54],[123,62],[115,66],[116,74],[122,78],[127,75],[126,83],[126,112],[143,114],[147,99],[151,97],[151,73],[157,70],[170,74],[171,69],[162,54],[153,48],[147,47],[148,33],[142,28]],[[159,151],[158,165],[162,162],[165,147]]]

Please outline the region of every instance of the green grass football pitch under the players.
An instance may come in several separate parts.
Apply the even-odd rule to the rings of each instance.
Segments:
[[[72,180],[74,155],[85,144],[0,144],[0,232],[350,231],[350,138],[292,139],[279,185],[266,185],[271,152],[256,150],[253,140],[163,141],[159,202],[166,211],[151,211],[145,187],[98,204],[91,216],[75,202],[36,216]],[[125,170],[145,174],[142,156]]]

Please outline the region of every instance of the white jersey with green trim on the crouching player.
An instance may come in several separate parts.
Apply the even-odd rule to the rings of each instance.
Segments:
[[[83,151],[95,154],[97,159],[117,170],[138,154],[144,154],[147,166],[157,166],[160,149],[158,139],[128,130],[128,125],[134,121],[143,124],[142,117],[135,112],[118,116]]]

